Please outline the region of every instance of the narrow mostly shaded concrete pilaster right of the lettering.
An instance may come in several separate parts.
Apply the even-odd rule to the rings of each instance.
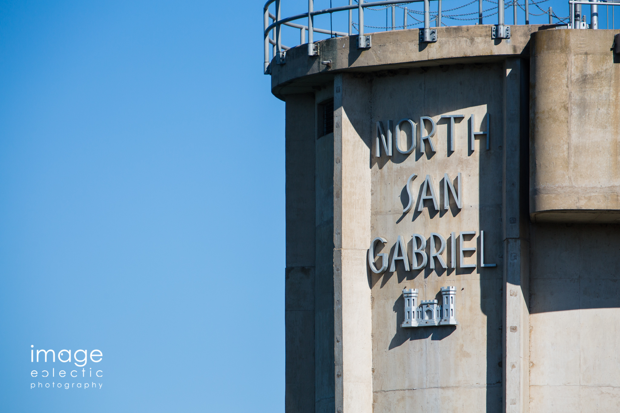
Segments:
[[[503,404],[507,413],[528,411],[529,240],[526,227],[528,76],[521,59],[505,61],[503,105]],[[525,144],[524,144],[525,142]],[[525,185],[524,185],[525,181]],[[524,193],[525,190],[525,193]]]

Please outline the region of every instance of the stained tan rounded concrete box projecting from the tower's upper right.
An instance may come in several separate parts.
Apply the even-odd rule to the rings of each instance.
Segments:
[[[531,219],[620,222],[617,30],[532,35]]]

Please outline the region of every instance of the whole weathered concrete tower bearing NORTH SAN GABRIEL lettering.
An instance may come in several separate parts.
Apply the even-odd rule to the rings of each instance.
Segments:
[[[620,211],[613,33],[491,32],[371,33],[367,49],[332,38],[272,64],[286,102],[288,413],[620,402],[620,227],[575,224],[601,212],[570,198],[607,194],[597,204]],[[606,180],[582,176],[597,163]]]

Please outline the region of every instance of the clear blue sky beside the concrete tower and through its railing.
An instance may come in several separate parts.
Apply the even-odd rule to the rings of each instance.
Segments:
[[[284,411],[285,114],[262,4],[0,0],[2,412]]]

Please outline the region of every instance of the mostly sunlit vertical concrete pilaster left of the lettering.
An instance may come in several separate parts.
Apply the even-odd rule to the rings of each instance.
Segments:
[[[370,87],[334,79],[334,331],[337,413],[371,413]]]

